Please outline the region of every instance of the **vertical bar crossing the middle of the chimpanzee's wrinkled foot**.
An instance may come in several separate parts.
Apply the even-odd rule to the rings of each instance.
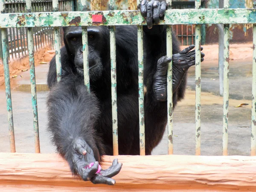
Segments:
[[[168,57],[172,57],[172,26],[167,26],[166,29],[166,52]],[[167,109],[168,154],[173,154],[172,61],[169,63],[167,71]]]

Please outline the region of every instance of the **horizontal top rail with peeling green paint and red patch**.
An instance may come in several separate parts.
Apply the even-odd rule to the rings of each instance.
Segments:
[[[102,15],[93,22],[92,15]],[[172,9],[166,10],[160,25],[256,23],[256,9]],[[0,14],[0,28],[42,26],[146,25],[139,11],[36,12]]]

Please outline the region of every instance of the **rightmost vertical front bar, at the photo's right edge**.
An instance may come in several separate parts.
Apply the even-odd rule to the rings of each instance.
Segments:
[[[256,155],[256,24],[253,25],[253,90],[252,90],[252,129],[251,155]]]

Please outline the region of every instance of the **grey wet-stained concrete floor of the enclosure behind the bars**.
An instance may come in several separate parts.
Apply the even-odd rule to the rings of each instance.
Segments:
[[[36,67],[38,118],[41,153],[55,153],[46,131],[46,75],[48,65]],[[252,61],[230,61],[229,155],[250,155]],[[29,71],[15,81],[12,90],[16,151],[33,153],[33,120]],[[174,111],[174,154],[195,154],[195,67],[189,69],[186,97]],[[222,154],[222,97],[219,94],[218,61],[202,63],[201,155]],[[12,87],[13,88],[13,87]],[[0,152],[9,152],[5,91],[0,90]],[[242,108],[234,106],[249,105]],[[153,154],[167,154],[167,133]]]

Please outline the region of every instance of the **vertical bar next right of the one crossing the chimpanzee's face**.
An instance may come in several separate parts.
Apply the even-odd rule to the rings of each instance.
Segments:
[[[115,1],[108,1],[109,9],[115,9]],[[110,27],[110,58],[111,58],[111,99],[112,99],[112,131],[113,155],[118,155],[118,128],[117,128],[117,94],[116,94],[116,27]]]

